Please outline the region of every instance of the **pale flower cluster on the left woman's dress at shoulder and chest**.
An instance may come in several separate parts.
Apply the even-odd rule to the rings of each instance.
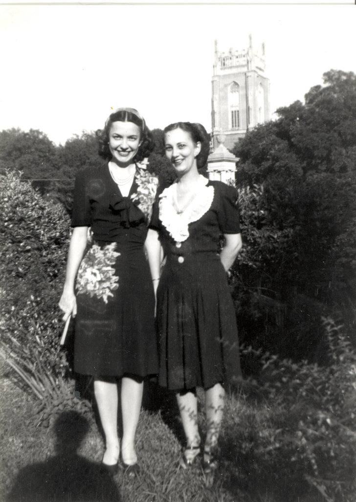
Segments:
[[[138,202],[137,205],[146,216],[148,224],[152,216],[152,205],[156,197],[158,178],[154,173],[146,170],[147,163],[137,163],[136,166],[136,183],[138,188],[137,192],[131,195],[131,200]]]

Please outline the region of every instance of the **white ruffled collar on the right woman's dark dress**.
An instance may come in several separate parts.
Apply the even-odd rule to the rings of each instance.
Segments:
[[[159,218],[171,237],[176,242],[183,242],[189,237],[188,225],[200,219],[211,207],[214,198],[214,187],[206,186],[208,179],[200,175],[194,200],[183,213],[178,214],[173,207],[173,191],[175,183],[159,196]]]

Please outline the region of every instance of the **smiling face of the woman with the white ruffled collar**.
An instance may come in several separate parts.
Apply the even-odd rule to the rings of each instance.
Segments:
[[[200,143],[195,143],[190,134],[182,129],[173,129],[165,134],[165,151],[178,175],[197,169],[195,157],[200,152]]]

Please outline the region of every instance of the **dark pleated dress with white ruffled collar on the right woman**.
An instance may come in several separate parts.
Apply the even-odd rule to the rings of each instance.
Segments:
[[[222,234],[240,232],[237,192],[201,176],[195,199],[177,214],[173,190],[159,196],[151,222],[166,255],[157,291],[159,384],[234,383],[241,379],[236,315],[218,250]]]

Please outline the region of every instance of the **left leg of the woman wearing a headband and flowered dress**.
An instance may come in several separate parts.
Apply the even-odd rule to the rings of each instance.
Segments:
[[[106,450],[103,463],[114,465],[119,460],[120,443],[117,429],[118,386],[116,382],[105,382],[100,377],[94,381],[94,394],[103,426]]]

